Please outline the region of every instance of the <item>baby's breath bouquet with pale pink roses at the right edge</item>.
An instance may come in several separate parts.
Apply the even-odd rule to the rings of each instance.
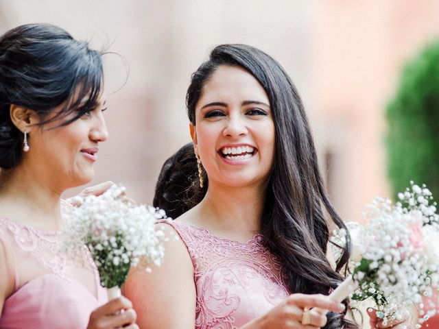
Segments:
[[[346,280],[351,289],[344,295],[351,292],[357,302],[371,298],[383,325],[403,319],[401,306],[416,306],[420,327],[437,308],[431,297],[439,287],[439,216],[426,186],[411,184],[399,193],[396,204],[377,197],[365,213],[368,225],[348,225],[353,274]],[[333,243],[346,241],[346,232],[334,233]],[[423,297],[430,297],[428,312],[423,310]]]

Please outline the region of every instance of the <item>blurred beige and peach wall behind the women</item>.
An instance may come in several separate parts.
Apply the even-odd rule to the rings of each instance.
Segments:
[[[298,86],[348,221],[388,195],[383,111],[403,62],[439,36],[438,17],[434,0],[0,0],[0,33],[54,23],[123,56],[106,56],[110,138],[92,184],[120,182],[151,203],[161,164],[189,141],[191,73],[213,46],[242,42],[270,53]],[[111,93],[125,81],[124,62],[128,82]]]

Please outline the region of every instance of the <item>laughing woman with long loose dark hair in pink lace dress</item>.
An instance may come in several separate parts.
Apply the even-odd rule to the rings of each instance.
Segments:
[[[344,223],[324,191],[305,110],[282,67],[254,47],[215,47],[192,75],[187,108],[207,191],[161,225],[181,238],[169,239],[161,267],[128,276],[124,291],[139,326],[357,328],[327,297],[343,279],[349,243],[334,269],[329,228]],[[309,311],[316,306],[331,312]]]

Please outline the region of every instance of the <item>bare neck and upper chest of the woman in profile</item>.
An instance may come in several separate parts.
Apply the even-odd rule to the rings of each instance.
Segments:
[[[62,192],[23,165],[2,169],[0,215],[43,230],[58,230]]]

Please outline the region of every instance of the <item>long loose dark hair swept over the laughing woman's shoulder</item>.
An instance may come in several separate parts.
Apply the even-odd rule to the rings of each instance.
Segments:
[[[248,45],[219,45],[191,77],[186,102],[193,125],[204,84],[221,65],[240,66],[252,74],[272,108],[276,144],[261,225],[265,246],[281,260],[289,291],[328,295],[343,279],[340,271],[348,261],[351,241],[333,269],[326,256],[329,224],[325,215],[337,227],[346,227],[324,189],[298,91],[282,66],[263,51]],[[348,301],[344,303],[347,306]],[[324,328],[357,325],[339,313],[329,313]]]

